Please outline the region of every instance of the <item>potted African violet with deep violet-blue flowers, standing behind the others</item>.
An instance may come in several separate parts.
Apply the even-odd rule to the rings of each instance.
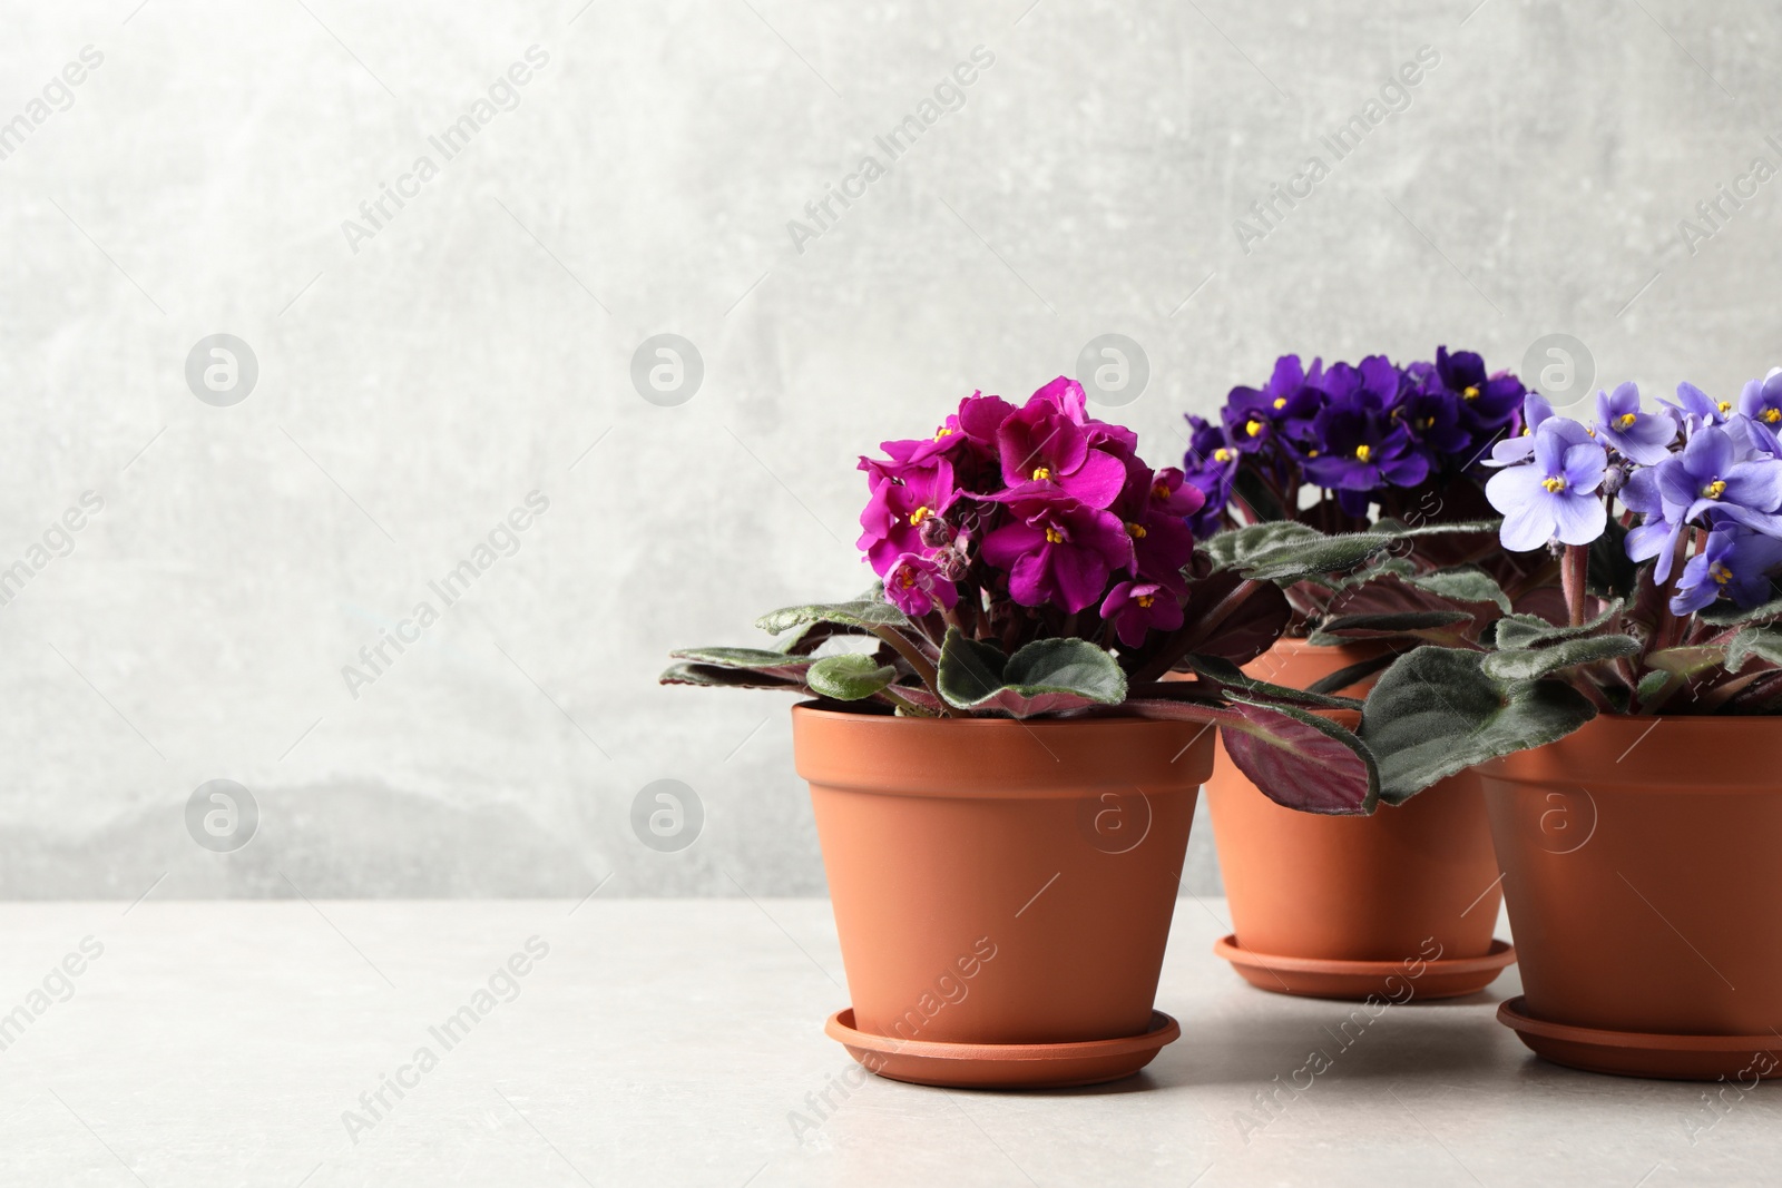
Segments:
[[[1420,643],[1465,647],[1513,606],[1561,611],[1557,565],[1506,552],[1484,500],[1479,463],[1520,427],[1524,394],[1468,351],[1406,367],[1288,354],[1262,388],[1233,388],[1217,424],[1189,417],[1208,563],[1283,582],[1294,607],[1246,671],[1360,696]],[[1215,757],[1206,796],[1235,928],[1215,951],[1244,978],[1365,997],[1417,958],[1415,994],[1447,997],[1515,960],[1492,935],[1499,867],[1470,773],[1367,818],[1287,812],[1267,791]]]

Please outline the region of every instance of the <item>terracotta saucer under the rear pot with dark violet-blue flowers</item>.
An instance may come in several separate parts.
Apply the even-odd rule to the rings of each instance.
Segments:
[[[1484,956],[1345,962],[1255,953],[1240,946],[1235,935],[1214,942],[1214,955],[1231,962],[1253,987],[1276,994],[1340,999],[1365,999],[1377,994],[1395,1003],[1474,994],[1492,985],[1497,974],[1516,960],[1516,949],[1508,940],[1492,940],[1492,949]]]

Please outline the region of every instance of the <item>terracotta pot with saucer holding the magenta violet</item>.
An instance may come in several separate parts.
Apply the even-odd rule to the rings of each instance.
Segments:
[[[830,1033],[875,1072],[941,1085],[1144,1067],[1174,1038],[1151,1003],[1212,746],[1183,721],[795,707],[854,997]],[[1148,1035],[1149,1051],[1082,1072],[1098,1054],[1083,1046]],[[868,1058],[861,1037],[900,1060]],[[994,1060],[984,1046],[1025,1051]]]

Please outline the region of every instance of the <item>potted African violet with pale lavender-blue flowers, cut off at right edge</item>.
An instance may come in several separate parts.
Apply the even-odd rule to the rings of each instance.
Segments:
[[[1426,647],[1367,698],[1399,796],[1479,764],[1524,996],[1499,1017],[1598,1072],[1773,1076],[1782,899],[1782,372],[1737,401],[1634,385],[1590,424],[1531,397],[1486,493],[1549,545],[1566,620]]]

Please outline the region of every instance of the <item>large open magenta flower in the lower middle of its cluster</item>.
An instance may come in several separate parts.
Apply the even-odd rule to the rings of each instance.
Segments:
[[[1132,538],[1108,511],[1053,497],[1025,499],[1009,513],[1012,522],[984,538],[984,559],[1009,574],[1021,606],[1082,611],[1101,600],[1114,570],[1135,565]]]

